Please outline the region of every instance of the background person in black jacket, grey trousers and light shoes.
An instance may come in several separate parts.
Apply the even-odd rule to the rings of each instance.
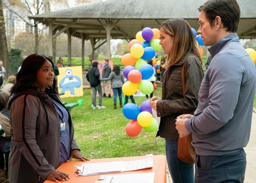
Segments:
[[[91,102],[93,103],[93,109],[97,109],[96,105],[96,95],[98,91],[98,109],[104,109],[106,107],[102,106],[102,89],[100,84],[100,70],[98,67],[100,67],[99,62],[93,62],[92,68],[88,71],[86,74],[86,79],[91,85]]]

